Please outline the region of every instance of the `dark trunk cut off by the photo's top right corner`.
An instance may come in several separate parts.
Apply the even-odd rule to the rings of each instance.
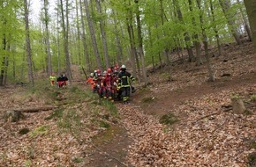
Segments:
[[[256,52],[256,3],[254,0],[245,0],[244,3],[251,27],[254,51]]]

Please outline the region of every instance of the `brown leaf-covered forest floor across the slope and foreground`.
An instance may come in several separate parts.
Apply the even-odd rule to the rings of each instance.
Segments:
[[[211,54],[215,52],[211,50]],[[195,66],[193,62],[176,61],[149,73],[150,85],[135,84],[137,91],[129,105],[115,103],[119,118],[108,119],[111,126],[107,130],[87,125],[69,128],[79,135],[59,131],[56,119],[45,119],[52,111],[27,113],[26,120],[18,123],[1,120],[0,166],[256,165],[256,54],[252,42],[222,47],[222,56],[211,61],[215,82],[207,80],[206,64]],[[50,105],[45,98],[26,93],[29,98],[24,98],[22,93],[24,88],[19,86],[0,89],[1,109]],[[234,96],[245,102],[245,113],[232,112],[230,98]],[[88,103],[94,101],[85,98],[65,107],[80,112],[98,107]],[[80,122],[87,124],[87,120]],[[35,129],[37,134],[20,135],[23,127]]]

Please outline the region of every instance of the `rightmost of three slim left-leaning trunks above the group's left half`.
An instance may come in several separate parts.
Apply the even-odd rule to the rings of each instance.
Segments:
[[[96,7],[97,7],[97,11],[102,15],[102,5],[101,5],[100,0],[96,0]],[[110,68],[109,50],[108,50],[107,38],[106,38],[106,33],[104,30],[102,18],[100,18],[100,29],[101,29],[101,33],[102,33],[102,44],[103,44],[106,66],[107,66],[107,68]]]

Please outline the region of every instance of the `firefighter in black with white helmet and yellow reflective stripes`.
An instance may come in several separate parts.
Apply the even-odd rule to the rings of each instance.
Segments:
[[[134,81],[135,78],[126,71],[125,65],[121,66],[120,73],[118,74],[118,87],[122,92],[122,99],[124,104],[127,104],[130,98],[131,91],[131,81]]]

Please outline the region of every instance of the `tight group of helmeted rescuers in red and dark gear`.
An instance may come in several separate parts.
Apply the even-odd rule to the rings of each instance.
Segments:
[[[126,71],[125,65],[119,69],[118,66],[111,67],[105,71],[94,70],[87,79],[87,84],[91,84],[91,89],[98,93],[100,98],[123,100],[124,104],[129,102],[131,92],[135,91],[132,81],[135,78]]]

